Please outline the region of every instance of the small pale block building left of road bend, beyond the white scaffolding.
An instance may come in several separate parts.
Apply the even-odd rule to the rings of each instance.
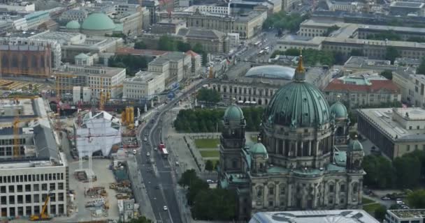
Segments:
[[[160,72],[140,71],[124,79],[122,98],[152,99],[165,90],[164,74]]]

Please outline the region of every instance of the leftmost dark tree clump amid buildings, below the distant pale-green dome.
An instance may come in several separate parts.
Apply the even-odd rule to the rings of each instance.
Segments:
[[[113,68],[126,68],[127,75],[134,75],[139,70],[147,68],[147,61],[143,56],[115,55],[108,59],[108,65]]]

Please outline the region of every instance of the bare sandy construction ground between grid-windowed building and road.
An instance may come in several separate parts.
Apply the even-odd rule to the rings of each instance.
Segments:
[[[87,165],[87,160],[84,160],[83,167]],[[91,208],[86,208],[86,205],[89,201],[94,201],[99,199],[99,197],[89,196],[86,192],[89,189],[89,183],[82,183],[72,175],[72,173],[79,168],[78,161],[74,161],[69,164],[69,187],[71,190],[75,191],[75,206],[78,208],[78,210],[76,210],[78,212],[71,214],[71,216],[76,217],[79,222],[88,220],[117,220],[119,218],[117,198],[115,197],[116,192],[108,187],[110,183],[115,182],[113,172],[108,169],[109,165],[110,160],[93,159],[93,171],[97,180],[92,184],[93,187],[105,187],[107,193],[105,201],[108,206],[108,209],[105,209],[105,211],[108,212],[108,215],[103,217],[93,217]]]

